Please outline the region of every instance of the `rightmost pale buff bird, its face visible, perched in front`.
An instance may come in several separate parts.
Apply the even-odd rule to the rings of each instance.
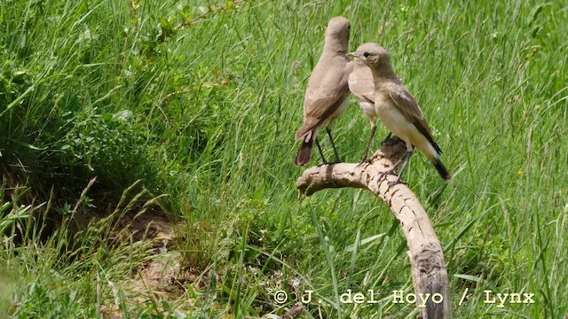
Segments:
[[[375,113],[383,125],[406,144],[406,153],[384,175],[392,173],[402,164],[392,184],[399,183],[414,147],[417,147],[432,161],[439,175],[449,180],[452,176],[439,157],[442,150],[434,141],[424,113],[394,73],[388,51],[377,43],[364,43],[357,51],[349,52],[346,56],[359,58],[370,68],[375,84]]]

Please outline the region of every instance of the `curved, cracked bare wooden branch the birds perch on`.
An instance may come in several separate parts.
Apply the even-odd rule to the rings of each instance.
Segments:
[[[385,141],[373,160],[356,163],[324,164],[310,167],[298,178],[300,195],[312,195],[328,188],[354,187],[371,191],[390,208],[403,229],[412,267],[412,281],[423,319],[452,318],[451,297],[442,246],[428,214],[413,191],[404,183],[390,186],[396,175],[383,175],[404,153],[398,138]],[[425,307],[420,298],[428,297]],[[442,298],[440,302],[440,296]],[[433,298],[434,297],[434,298]]]

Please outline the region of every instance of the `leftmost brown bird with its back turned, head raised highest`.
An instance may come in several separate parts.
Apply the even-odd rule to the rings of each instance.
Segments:
[[[302,141],[294,161],[296,166],[305,165],[310,161],[314,141],[321,159],[327,163],[317,139],[319,131],[326,123],[327,136],[334,149],[335,161],[341,162],[331,130],[349,104],[350,93],[347,81],[352,64],[346,54],[350,29],[349,20],[344,17],[334,17],[327,24],[323,51],[305,89],[304,123],[296,132],[296,140]]]

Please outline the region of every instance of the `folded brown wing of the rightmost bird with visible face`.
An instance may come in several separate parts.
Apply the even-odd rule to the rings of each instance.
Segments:
[[[436,149],[438,154],[442,153],[438,144],[434,141],[434,136],[432,136],[432,132],[430,131],[430,127],[428,126],[428,122],[424,119],[424,113],[414,100],[414,97],[408,89],[406,89],[403,85],[398,83],[390,82],[384,86],[388,92],[390,98],[398,106],[398,109],[405,114],[405,117],[408,121],[411,121],[416,128],[430,141],[432,146]]]

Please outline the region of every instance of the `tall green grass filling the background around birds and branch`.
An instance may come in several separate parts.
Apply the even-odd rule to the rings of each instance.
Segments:
[[[297,200],[293,136],[340,14],[352,50],[390,51],[455,173],[446,185],[418,154],[406,172],[444,247],[454,317],[568,312],[563,2],[250,1],[176,29],[219,4],[0,0],[1,317],[96,317],[101,305],[125,317],[284,315],[304,290],[305,317],[411,314],[390,298],[412,285],[386,207],[347,189]],[[335,126],[344,160],[360,158],[369,129],[353,102]],[[109,221],[160,194],[177,225],[170,249],[193,276],[137,304],[126,283],[156,249],[114,243]],[[380,302],[338,302],[348,289]],[[535,303],[484,304],[486,289]]]

